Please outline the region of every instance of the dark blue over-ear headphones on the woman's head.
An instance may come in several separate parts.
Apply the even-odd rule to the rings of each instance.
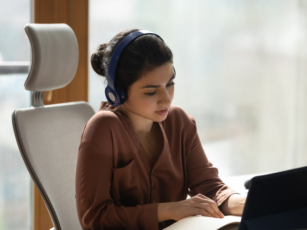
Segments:
[[[106,87],[105,94],[106,94],[108,102],[110,102],[110,104],[114,107],[117,107],[123,104],[126,100],[122,90],[118,86],[115,86],[115,72],[116,72],[116,67],[117,67],[119,58],[124,48],[131,41],[145,34],[156,35],[158,38],[160,38],[163,41],[163,39],[155,33],[152,33],[148,30],[138,30],[133,33],[130,33],[123,40],[121,40],[120,43],[116,46],[111,56],[111,61],[110,61],[110,66],[109,66],[109,71],[108,71],[108,85]]]

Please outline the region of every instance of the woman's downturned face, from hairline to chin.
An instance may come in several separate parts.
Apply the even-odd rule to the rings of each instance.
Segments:
[[[165,120],[174,97],[174,77],[173,64],[167,63],[134,82],[122,104],[126,115],[130,119]]]

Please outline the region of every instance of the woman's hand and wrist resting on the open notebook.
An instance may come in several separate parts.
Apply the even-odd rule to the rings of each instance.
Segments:
[[[158,204],[158,222],[171,219],[181,220],[195,215],[216,218],[224,217],[216,202],[202,194],[183,201]]]

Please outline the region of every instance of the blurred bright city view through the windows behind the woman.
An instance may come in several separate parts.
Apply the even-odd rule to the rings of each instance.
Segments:
[[[0,0],[0,64],[29,62],[30,0]],[[306,0],[89,0],[89,57],[128,28],[174,54],[173,105],[195,117],[221,178],[307,165]],[[29,229],[30,176],[11,122],[27,74],[0,74],[0,230]],[[105,101],[89,64],[89,103]]]

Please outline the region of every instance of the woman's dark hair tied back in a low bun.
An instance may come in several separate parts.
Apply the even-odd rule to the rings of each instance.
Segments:
[[[99,45],[91,56],[91,66],[107,81],[112,53],[119,42],[139,29],[128,29],[116,34],[110,42]],[[129,43],[123,50],[115,73],[115,85],[125,92],[146,72],[166,63],[173,63],[173,53],[157,36],[146,34]]]

